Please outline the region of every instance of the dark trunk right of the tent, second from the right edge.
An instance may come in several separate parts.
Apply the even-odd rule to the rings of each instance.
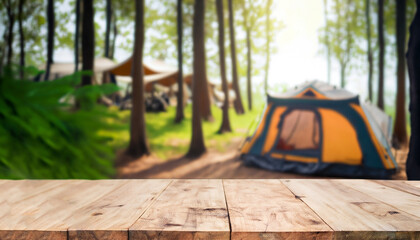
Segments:
[[[407,126],[405,119],[405,44],[406,44],[406,0],[397,1],[397,102],[393,142],[395,147],[407,145]]]

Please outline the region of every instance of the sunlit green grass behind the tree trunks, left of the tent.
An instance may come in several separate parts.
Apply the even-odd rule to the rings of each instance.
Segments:
[[[174,123],[175,107],[169,107],[166,112],[162,113],[146,113],[146,131],[152,154],[162,159],[169,159],[181,156],[188,151],[191,138],[191,105],[185,108],[186,118],[183,122]],[[252,123],[255,126],[258,123],[256,119],[262,112],[263,107],[255,107],[253,111],[246,111],[244,115],[236,115],[233,109],[229,111],[229,117],[233,132],[218,134],[222,111],[213,106],[212,114],[213,122],[203,121],[203,132],[206,147],[224,152],[229,146],[232,138],[245,138]],[[130,111],[119,111],[111,108],[112,112],[117,114],[116,119],[110,119],[115,123],[122,124],[119,130],[106,130],[102,134],[113,138],[112,145],[117,151],[125,149],[129,141],[129,123]],[[252,130],[249,131],[252,134]]]

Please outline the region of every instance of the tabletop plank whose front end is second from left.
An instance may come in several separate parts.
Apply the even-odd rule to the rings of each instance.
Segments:
[[[128,228],[140,218],[171,180],[126,180],[101,199],[73,213],[69,239],[128,239]]]

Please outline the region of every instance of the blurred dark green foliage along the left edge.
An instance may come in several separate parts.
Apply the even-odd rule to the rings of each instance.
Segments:
[[[19,79],[14,67],[0,76],[0,178],[107,178],[113,171],[110,138],[99,134],[112,114],[96,99],[116,90],[76,87],[81,73],[50,82]],[[78,99],[79,109],[70,102]]]

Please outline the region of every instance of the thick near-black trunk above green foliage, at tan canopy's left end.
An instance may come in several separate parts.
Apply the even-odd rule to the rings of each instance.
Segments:
[[[92,71],[92,76],[82,77],[82,86],[92,85],[95,58],[95,26],[93,0],[83,0],[82,69]]]

